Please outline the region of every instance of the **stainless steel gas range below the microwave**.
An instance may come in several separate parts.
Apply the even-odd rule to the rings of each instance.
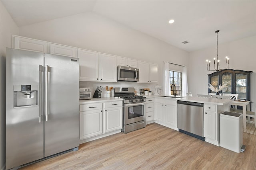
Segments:
[[[124,99],[122,132],[146,127],[146,97],[134,96],[134,88],[114,88],[114,96]]]

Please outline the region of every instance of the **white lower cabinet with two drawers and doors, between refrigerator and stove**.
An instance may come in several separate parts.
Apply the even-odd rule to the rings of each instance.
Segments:
[[[80,104],[80,143],[121,132],[122,101]]]

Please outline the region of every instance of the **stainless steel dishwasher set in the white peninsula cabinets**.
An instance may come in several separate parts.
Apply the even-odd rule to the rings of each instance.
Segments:
[[[178,129],[182,133],[204,140],[204,104],[177,101]]]

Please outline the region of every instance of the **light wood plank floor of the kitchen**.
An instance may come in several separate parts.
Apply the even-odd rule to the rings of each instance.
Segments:
[[[243,133],[241,153],[152,123],[127,134],[118,133],[84,143],[68,152],[22,170],[242,169],[256,170],[256,135]]]

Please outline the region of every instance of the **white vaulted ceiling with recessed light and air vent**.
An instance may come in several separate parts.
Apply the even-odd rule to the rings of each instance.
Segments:
[[[19,27],[95,12],[186,51],[216,45],[216,30],[219,44],[256,35],[254,0],[1,1]]]

